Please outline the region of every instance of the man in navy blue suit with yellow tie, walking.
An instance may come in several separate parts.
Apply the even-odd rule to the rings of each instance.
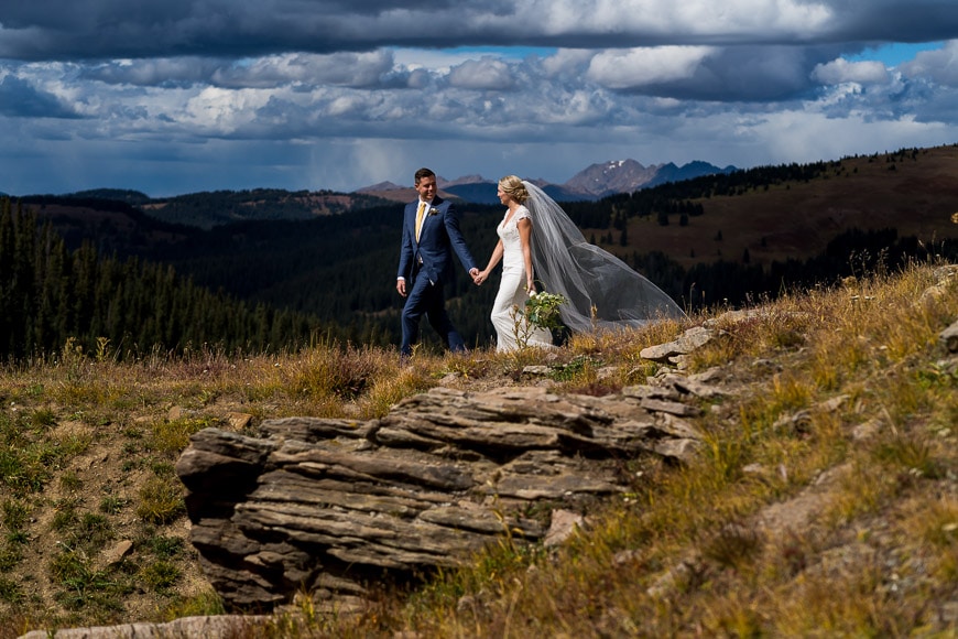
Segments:
[[[412,355],[413,344],[418,340],[423,313],[446,348],[454,353],[466,350],[462,336],[446,313],[444,284],[455,275],[453,251],[472,278],[479,274],[459,232],[459,217],[453,204],[436,195],[436,174],[429,169],[420,169],[415,180],[420,197],[407,204],[403,214],[403,240],[395,283],[399,294],[406,299],[400,347],[403,361]]]

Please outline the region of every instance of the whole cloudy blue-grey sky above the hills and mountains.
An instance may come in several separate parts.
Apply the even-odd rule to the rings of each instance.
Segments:
[[[955,0],[0,0],[0,192],[958,142]]]

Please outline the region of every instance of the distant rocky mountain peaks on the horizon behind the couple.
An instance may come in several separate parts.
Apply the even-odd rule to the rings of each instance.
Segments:
[[[530,182],[545,191],[556,202],[580,202],[596,201],[617,193],[632,193],[666,182],[681,182],[733,171],[737,169],[732,165],[721,169],[701,161],[689,162],[683,166],[672,162],[644,166],[635,160],[614,160],[592,164],[563,184],[553,184],[544,180],[530,180]],[[499,198],[496,196],[497,181],[487,180],[481,175],[465,175],[456,180],[439,176],[436,182],[442,192],[466,202],[499,204]],[[358,188],[356,193],[401,202],[412,198],[412,188],[392,182],[364,186]]]

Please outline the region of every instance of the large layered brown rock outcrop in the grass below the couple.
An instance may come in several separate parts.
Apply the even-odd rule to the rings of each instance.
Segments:
[[[686,378],[601,398],[436,388],[379,420],[269,420],[261,437],[207,429],[176,470],[193,544],[229,606],[305,589],[344,609],[371,583],[454,566],[504,538],[542,541],[554,511],[629,490],[636,456],[694,454],[684,418],[706,392]]]

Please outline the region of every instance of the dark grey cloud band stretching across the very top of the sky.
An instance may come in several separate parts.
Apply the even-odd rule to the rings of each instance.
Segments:
[[[34,0],[0,6],[0,57],[243,57],[382,46],[814,44],[943,40],[952,0]]]

